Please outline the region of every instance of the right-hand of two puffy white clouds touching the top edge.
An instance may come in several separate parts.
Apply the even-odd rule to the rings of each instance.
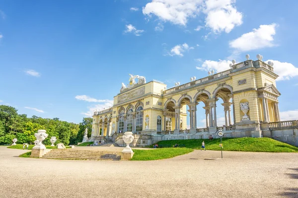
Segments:
[[[206,26],[214,33],[229,33],[242,24],[242,13],[233,6],[235,0],[206,0],[203,12],[207,15]]]

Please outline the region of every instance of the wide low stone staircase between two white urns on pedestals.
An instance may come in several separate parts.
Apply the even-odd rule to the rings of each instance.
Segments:
[[[85,159],[85,160],[120,160],[121,152],[79,149],[52,149],[41,158],[47,159]]]

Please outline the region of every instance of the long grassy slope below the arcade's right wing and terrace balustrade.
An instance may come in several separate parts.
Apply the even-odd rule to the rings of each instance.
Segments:
[[[213,140],[168,140],[160,141],[158,145],[185,145],[186,148],[201,149],[205,141],[206,150],[221,150],[221,139]],[[152,146],[151,146],[152,147]],[[282,143],[271,138],[223,138],[223,150],[253,151],[253,152],[298,152],[298,147]]]

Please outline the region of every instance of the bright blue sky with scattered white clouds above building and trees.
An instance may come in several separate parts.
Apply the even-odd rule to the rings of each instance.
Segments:
[[[129,73],[170,88],[261,54],[280,75],[282,118],[297,119],[297,7],[296,0],[0,0],[0,104],[78,123],[111,105]]]

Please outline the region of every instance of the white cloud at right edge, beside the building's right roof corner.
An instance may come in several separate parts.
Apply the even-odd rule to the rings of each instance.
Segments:
[[[295,67],[293,64],[288,62],[280,62],[278,60],[267,60],[265,62],[268,63],[268,61],[274,63],[274,73],[279,75],[279,77],[276,79],[277,81],[290,80],[291,78],[298,76],[298,67]]]

